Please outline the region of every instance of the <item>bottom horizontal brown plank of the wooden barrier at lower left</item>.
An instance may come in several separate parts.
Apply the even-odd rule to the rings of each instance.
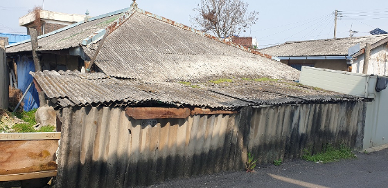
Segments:
[[[35,178],[46,178],[57,176],[57,171],[39,171],[32,173],[17,173],[0,175],[0,182],[15,181],[15,180],[29,180]]]

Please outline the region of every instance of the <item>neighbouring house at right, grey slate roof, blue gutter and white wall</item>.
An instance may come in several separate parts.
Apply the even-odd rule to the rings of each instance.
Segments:
[[[369,43],[372,46],[372,57],[368,73],[388,75],[387,41],[388,35],[289,41],[260,51],[272,55],[274,59],[279,59],[283,64],[288,64],[299,71],[301,66],[312,66],[362,73],[364,48]]]

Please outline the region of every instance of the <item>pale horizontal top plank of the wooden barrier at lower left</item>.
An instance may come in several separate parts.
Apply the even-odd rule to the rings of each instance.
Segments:
[[[2,140],[59,140],[60,132],[55,133],[0,133]]]

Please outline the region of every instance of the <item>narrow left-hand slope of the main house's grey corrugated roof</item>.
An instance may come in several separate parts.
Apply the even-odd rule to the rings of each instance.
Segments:
[[[37,50],[63,50],[80,46],[83,39],[89,37],[94,32],[105,28],[113,21],[116,21],[118,17],[120,17],[119,13],[117,15],[94,19],[86,23],[75,23],[75,26],[60,32],[55,31],[56,33],[53,35],[38,39],[39,48]],[[30,50],[30,41],[6,48],[7,53],[18,53]]]

